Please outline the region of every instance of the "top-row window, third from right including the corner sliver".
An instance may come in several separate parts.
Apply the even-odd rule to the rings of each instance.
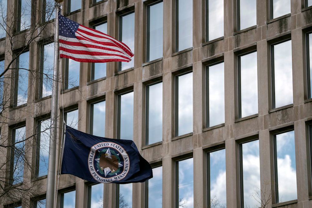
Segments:
[[[237,30],[257,25],[256,0],[237,0]]]

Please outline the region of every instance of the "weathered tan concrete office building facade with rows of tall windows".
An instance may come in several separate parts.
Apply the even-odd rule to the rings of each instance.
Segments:
[[[45,22],[40,11],[47,0],[30,6],[8,0],[7,17],[23,17],[18,8],[27,8],[27,2],[29,24]],[[154,181],[96,189],[61,175],[56,207],[98,207],[92,190],[105,208],[312,207],[310,0],[65,0],[61,12],[87,27],[105,26],[134,58],[105,65],[62,59],[59,125],[64,119],[85,133],[133,139],[155,172]],[[19,22],[15,40],[31,31]],[[22,180],[14,182],[21,176],[12,169],[18,162],[7,161],[15,161],[15,153],[1,147],[6,161],[1,177],[33,191],[5,198],[0,207],[40,207],[37,201],[46,197],[46,163],[39,162],[36,133],[51,111],[49,81],[40,80],[49,62],[42,55],[49,53],[45,46],[53,46],[53,24],[48,21],[14,62],[28,67],[19,76],[26,77],[26,88],[12,78],[16,70],[5,73],[0,143],[21,141],[16,135],[24,132],[22,138],[30,137],[22,143],[30,168],[25,165]],[[11,26],[8,21],[7,30]],[[11,39],[9,34],[0,39],[3,69],[25,45],[17,41],[9,53]],[[21,66],[22,58],[27,64]],[[26,89],[26,99],[17,89]]]

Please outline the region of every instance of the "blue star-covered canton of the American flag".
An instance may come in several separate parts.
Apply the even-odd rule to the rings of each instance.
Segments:
[[[60,13],[58,14],[58,17],[59,17],[59,35],[76,38],[75,32],[77,31],[80,24],[70,19],[67,19]]]

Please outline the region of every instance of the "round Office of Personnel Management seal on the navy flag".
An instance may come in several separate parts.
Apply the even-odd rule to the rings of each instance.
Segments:
[[[129,166],[127,152],[117,143],[100,142],[90,148],[89,171],[100,183],[120,181],[128,174]]]

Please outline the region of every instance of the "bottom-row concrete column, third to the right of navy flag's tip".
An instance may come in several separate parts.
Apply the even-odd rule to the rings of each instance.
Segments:
[[[236,142],[235,139],[225,140],[227,206],[237,207],[236,191]]]

